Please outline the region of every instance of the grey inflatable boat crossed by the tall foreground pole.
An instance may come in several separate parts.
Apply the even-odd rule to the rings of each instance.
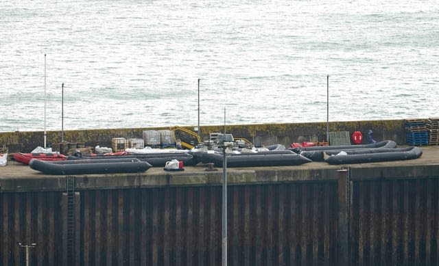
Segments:
[[[202,161],[213,163],[215,167],[222,167],[223,155],[217,152],[204,152]],[[283,166],[301,165],[310,163],[311,160],[294,152],[285,154],[252,154],[252,155],[228,155],[228,167],[258,167],[258,166]]]

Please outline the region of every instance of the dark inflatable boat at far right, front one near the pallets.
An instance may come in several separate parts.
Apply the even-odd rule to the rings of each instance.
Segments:
[[[364,154],[331,155],[324,159],[329,164],[375,163],[379,161],[401,161],[419,158],[423,150],[419,147],[403,148],[390,152],[374,152]]]

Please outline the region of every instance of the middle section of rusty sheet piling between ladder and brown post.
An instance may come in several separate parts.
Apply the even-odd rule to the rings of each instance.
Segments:
[[[331,265],[336,186],[228,189],[228,265]],[[82,193],[82,265],[220,265],[221,187]],[[93,202],[93,204],[91,204]]]

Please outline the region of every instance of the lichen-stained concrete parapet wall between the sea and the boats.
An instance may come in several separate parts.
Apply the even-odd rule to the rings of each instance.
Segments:
[[[193,130],[194,127],[185,127]],[[139,127],[132,129],[78,129],[64,131],[64,140],[70,143],[84,143],[86,146],[111,147],[114,137],[142,138],[143,131],[162,130],[169,127]],[[365,120],[347,122],[329,122],[329,131],[354,131],[363,134],[363,143],[369,129],[374,132],[374,139],[393,140],[397,144],[405,144],[405,129],[403,120]],[[209,139],[209,133],[224,132],[223,125],[200,126],[203,140]],[[282,124],[235,124],[226,125],[226,133],[234,137],[244,137],[257,146],[283,144],[289,146],[292,142],[324,142],[327,140],[327,123],[282,123]],[[61,131],[47,131],[47,146],[61,142]],[[43,131],[0,132],[0,146],[5,145],[10,152],[30,152],[37,146],[43,146]]]

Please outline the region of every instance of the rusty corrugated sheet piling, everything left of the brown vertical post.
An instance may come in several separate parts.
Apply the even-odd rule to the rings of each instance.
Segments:
[[[228,188],[228,265],[334,265],[336,183]],[[1,262],[65,264],[58,192],[0,194]],[[221,187],[80,191],[76,265],[220,265]],[[65,200],[64,200],[65,201]]]

